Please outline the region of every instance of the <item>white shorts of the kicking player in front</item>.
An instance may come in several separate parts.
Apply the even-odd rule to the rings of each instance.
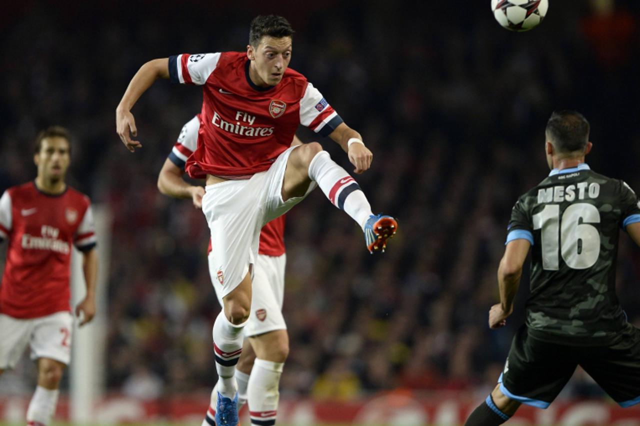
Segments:
[[[209,269],[212,281],[222,287],[220,297],[232,292],[250,271],[250,265],[255,265],[262,226],[285,214],[314,189],[315,185],[309,185],[304,196],[282,200],[284,172],[295,148],[288,148],[269,170],[250,179],[205,187],[202,211],[211,230]]]

